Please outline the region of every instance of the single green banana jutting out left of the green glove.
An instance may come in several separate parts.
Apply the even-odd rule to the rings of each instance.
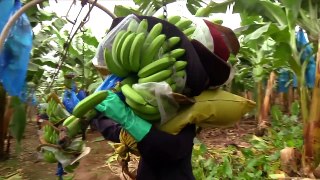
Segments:
[[[82,99],[76,107],[74,107],[72,114],[75,117],[82,118],[89,110],[95,108],[99,103],[106,99],[108,91],[98,91],[90,94]]]

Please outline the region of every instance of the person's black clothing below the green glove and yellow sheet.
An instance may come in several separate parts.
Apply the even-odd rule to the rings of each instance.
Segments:
[[[105,139],[119,142],[121,126],[100,117],[93,120]],[[188,125],[177,135],[171,135],[154,127],[138,142],[141,154],[138,180],[193,180],[191,156],[195,126]]]

